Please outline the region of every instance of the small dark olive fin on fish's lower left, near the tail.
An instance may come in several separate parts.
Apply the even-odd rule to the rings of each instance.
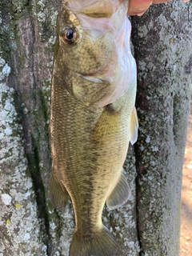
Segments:
[[[69,195],[67,194],[65,188],[58,183],[54,178],[54,174],[51,171],[50,173],[50,201],[55,208],[62,210],[65,208],[66,203],[68,202]]]

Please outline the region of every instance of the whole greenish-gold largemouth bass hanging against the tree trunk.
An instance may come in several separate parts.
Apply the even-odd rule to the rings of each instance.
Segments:
[[[50,200],[74,209],[70,256],[118,255],[103,207],[123,206],[137,140],[136,65],[127,0],[69,0],[58,14],[50,100]]]

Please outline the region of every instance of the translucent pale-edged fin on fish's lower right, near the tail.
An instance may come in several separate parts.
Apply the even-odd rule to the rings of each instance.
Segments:
[[[106,205],[111,209],[123,206],[130,197],[130,186],[126,182],[125,176],[122,174],[118,184],[106,199]]]

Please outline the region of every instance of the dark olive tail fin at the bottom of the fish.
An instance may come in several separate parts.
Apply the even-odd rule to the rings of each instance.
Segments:
[[[89,238],[78,238],[78,232],[74,232],[70,245],[70,256],[117,256],[118,251],[117,242],[105,226]]]

